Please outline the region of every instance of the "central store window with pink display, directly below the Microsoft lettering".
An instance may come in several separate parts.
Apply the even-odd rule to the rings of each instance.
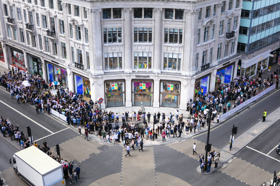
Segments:
[[[132,81],[132,105],[153,106],[153,82],[152,81]]]

